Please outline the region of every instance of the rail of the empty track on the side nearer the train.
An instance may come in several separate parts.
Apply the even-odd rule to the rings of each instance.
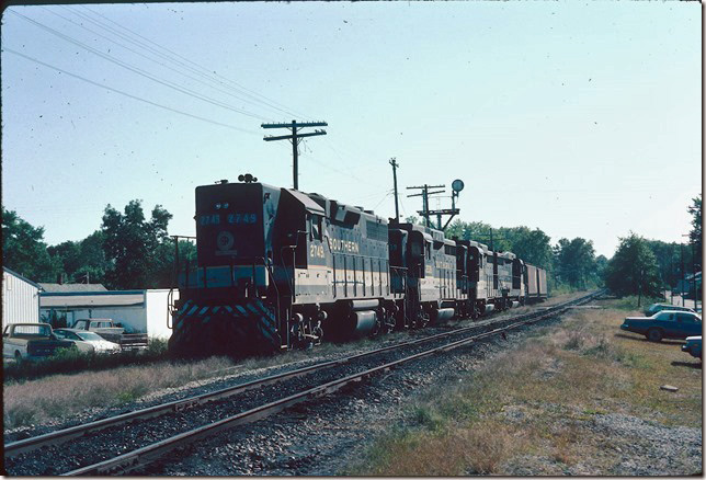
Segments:
[[[595,294],[591,294],[591,295],[595,295]],[[70,427],[67,427],[67,428],[57,430],[57,431],[49,432],[49,433],[46,433],[46,434],[43,434],[43,435],[37,435],[37,436],[34,436],[34,437],[30,437],[30,438],[23,438],[23,439],[16,441],[16,442],[5,444],[4,445],[4,457],[5,458],[12,458],[14,456],[25,454],[25,453],[35,450],[37,448],[41,448],[41,447],[47,446],[47,445],[60,445],[60,444],[66,443],[66,442],[68,442],[70,439],[81,437],[81,436],[83,436],[83,435],[86,435],[88,433],[98,432],[98,431],[104,430],[104,428],[106,428],[109,426],[122,425],[124,423],[132,422],[134,420],[146,420],[146,419],[151,419],[151,418],[156,418],[156,416],[166,415],[166,414],[169,414],[171,412],[180,412],[180,411],[183,411],[183,410],[186,410],[186,409],[190,409],[190,408],[198,407],[198,405],[202,405],[202,404],[205,404],[205,403],[208,403],[208,402],[213,402],[213,401],[216,401],[216,400],[219,400],[219,399],[223,399],[223,398],[235,396],[235,395],[248,391],[248,390],[252,390],[252,389],[255,389],[255,388],[261,388],[261,387],[265,387],[265,386],[269,386],[269,385],[273,385],[273,384],[276,384],[276,382],[280,382],[280,381],[293,379],[293,378],[296,378],[296,377],[308,375],[308,374],[317,372],[317,370],[322,370],[322,369],[326,369],[326,368],[340,366],[340,365],[351,363],[353,361],[356,361],[356,359],[360,359],[360,358],[363,358],[363,357],[366,357],[366,356],[372,356],[372,355],[377,355],[377,354],[380,354],[380,353],[385,353],[387,351],[392,351],[392,350],[397,350],[397,348],[403,348],[403,347],[407,347],[407,346],[413,346],[415,344],[430,342],[432,340],[437,340],[437,339],[442,339],[442,338],[445,338],[445,336],[452,336],[452,335],[456,335],[456,334],[459,334],[459,333],[465,333],[465,332],[468,332],[468,331],[471,331],[471,330],[477,330],[479,328],[489,327],[489,325],[492,325],[494,323],[521,321],[521,320],[524,320],[524,319],[530,319],[530,318],[533,318],[533,317],[545,315],[547,312],[555,312],[555,311],[557,311],[559,309],[562,309],[562,308],[566,308],[566,307],[572,305],[573,302],[583,300],[584,298],[588,298],[588,297],[581,297],[579,299],[573,299],[573,300],[570,300],[570,301],[567,301],[567,302],[563,302],[563,304],[551,306],[551,307],[548,307],[547,309],[542,310],[542,311],[527,312],[527,313],[523,313],[523,315],[514,317],[514,318],[497,319],[496,321],[491,321],[491,322],[485,323],[485,324],[469,325],[469,327],[457,329],[457,330],[454,330],[454,331],[451,331],[451,332],[442,332],[442,333],[437,333],[437,334],[434,334],[434,335],[424,336],[422,339],[411,340],[411,341],[408,341],[408,342],[400,342],[400,343],[384,346],[384,347],[380,347],[380,348],[375,348],[375,350],[372,350],[372,351],[367,351],[367,352],[363,352],[363,353],[360,353],[360,354],[351,355],[351,356],[348,356],[348,357],[338,358],[338,359],[334,359],[334,361],[322,362],[322,363],[309,365],[307,367],[298,368],[298,369],[295,369],[295,370],[284,372],[284,373],[275,374],[275,375],[272,375],[272,376],[269,376],[269,377],[265,377],[265,378],[251,380],[251,381],[235,385],[235,386],[231,386],[231,387],[226,387],[226,388],[223,388],[223,389],[219,389],[219,390],[215,390],[215,391],[207,392],[207,393],[202,393],[202,395],[198,395],[198,396],[195,396],[195,397],[174,400],[174,401],[171,401],[171,402],[161,403],[161,404],[158,404],[158,405],[148,407],[148,408],[140,409],[140,410],[135,410],[133,412],[123,413],[123,414],[111,416],[111,418],[107,418],[107,419],[101,419],[101,420],[96,420],[94,422],[80,424],[80,425],[75,425],[75,426],[70,426]]]

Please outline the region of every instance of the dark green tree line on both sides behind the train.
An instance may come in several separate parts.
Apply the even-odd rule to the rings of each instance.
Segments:
[[[547,271],[550,289],[606,285],[618,295],[658,296],[702,265],[702,198],[693,199],[690,244],[648,240],[630,232],[622,238],[608,261],[595,255],[593,242],[580,237],[555,244],[539,228],[492,228],[482,221],[457,219],[447,238],[476,240],[493,250],[511,251]],[[2,262],[23,276],[42,283],[101,283],[109,289],[169,288],[173,284],[174,240],[167,228],[172,215],[156,205],[147,218],[141,201],[123,212],[110,204],[100,229],[83,240],[56,245],[44,242],[44,228],[34,227],[2,207]],[[420,224],[415,217],[407,221]],[[180,258],[195,262],[195,245],[180,241]]]

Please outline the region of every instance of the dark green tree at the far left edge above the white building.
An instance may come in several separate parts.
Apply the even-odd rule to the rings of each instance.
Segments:
[[[2,264],[34,281],[56,282],[60,263],[47,252],[44,227],[33,227],[2,207]]]

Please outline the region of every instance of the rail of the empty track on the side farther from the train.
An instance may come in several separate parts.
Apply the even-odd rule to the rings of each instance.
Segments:
[[[127,454],[119,455],[115,458],[103,460],[98,464],[89,465],[76,470],[71,470],[67,473],[62,473],[62,476],[84,476],[84,475],[105,476],[105,475],[114,475],[117,472],[128,473],[135,470],[136,468],[139,468],[141,466],[150,464],[151,461],[155,461],[156,459],[160,458],[168,452],[171,452],[183,445],[191,444],[197,439],[212,436],[215,433],[218,433],[223,430],[231,428],[237,425],[251,423],[257,420],[264,419],[266,416],[281,412],[297,403],[308,401],[314,398],[327,396],[350,384],[360,382],[377,373],[388,372],[405,363],[412,362],[425,356],[434,355],[440,352],[447,352],[447,351],[457,348],[459,346],[464,346],[464,345],[468,345],[470,343],[477,342],[478,340],[482,340],[488,336],[497,335],[499,333],[516,329],[525,324],[532,324],[547,318],[556,317],[567,311],[571,305],[579,304],[581,301],[589,301],[595,298],[596,296],[599,296],[601,293],[602,290],[597,293],[593,293],[587,297],[582,297],[578,300],[572,300],[570,302],[562,305],[562,307],[558,309],[555,309],[555,308],[547,309],[540,312],[539,316],[533,316],[533,318],[515,321],[510,325],[497,328],[488,332],[482,332],[477,335],[457,340],[457,341],[447,343],[445,345],[436,346],[434,348],[430,348],[424,352],[419,352],[417,354],[407,356],[405,358],[399,358],[397,361],[389,362],[384,365],[373,367],[357,374],[349,375],[346,377],[339,378],[337,380],[332,380],[314,388],[309,388],[299,393],[295,393],[280,400],[276,400],[260,407],[255,407],[246,412],[241,412],[236,415],[219,420],[217,422],[213,422],[210,424],[200,426],[189,432],[184,432],[184,433],[174,435],[172,437],[162,439],[160,442],[156,442],[151,445],[147,445],[145,447],[138,448]]]

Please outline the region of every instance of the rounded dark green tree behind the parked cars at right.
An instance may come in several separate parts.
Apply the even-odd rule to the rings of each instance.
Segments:
[[[605,286],[620,297],[661,295],[657,259],[642,237],[630,232],[629,237],[620,239],[605,268]]]

